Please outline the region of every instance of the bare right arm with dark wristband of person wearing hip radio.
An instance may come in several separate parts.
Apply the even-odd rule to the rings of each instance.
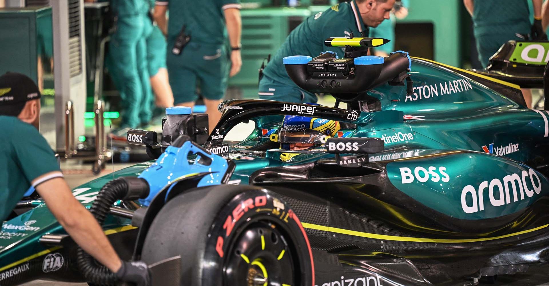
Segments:
[[[240,19],[240,9],[227,8],[225,13],[225,22],[227,24],[227,33],[231,47],[240,47],[240,35],[242,35],[242,19]],[[242,67],[242,57],[240,50],[231,52],[231,72],[229,76],[238,74]]]

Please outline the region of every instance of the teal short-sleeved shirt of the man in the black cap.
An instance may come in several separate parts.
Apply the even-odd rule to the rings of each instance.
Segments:
[[[3,221],[32,187],[63,177],[55,153],[46,139],[30,124],[14,116],[0,115],[0,219]]]

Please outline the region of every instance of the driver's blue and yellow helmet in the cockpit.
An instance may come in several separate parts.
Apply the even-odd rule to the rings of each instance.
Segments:
[[[339,121],[335,120],[285,115],[282,127],[278,128],[276,142],[281,143],[281,149],[309,150],[326,143],[326,139],[334,137],[340,128]],[[289,161],[298,154],[282,153],[280,158],[282,161]]]

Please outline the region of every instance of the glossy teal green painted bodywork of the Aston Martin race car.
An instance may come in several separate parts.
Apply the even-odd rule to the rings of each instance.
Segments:
[[[408,96],[404,86],[380,86],[368,94],[379,99],[381,110],[361,112],[353,121],[356,128],[341,130],[352,137],[384,139],[385,150],[370,154],[369,160],[385,166],[390,184],[418,204],[462,220],[515,214],[547,195],[549,181],[533,167],[547,164],[539,156],[540,146],[549,143],[546,111],[526,109],[505,94],[429,61],[413,59],[410,75],[413,95]],[[281,150],[269,149],[262,156],[247,152],[269,141],[260,136],[261,128],[280,126],[276,120],[253,120],[254,132],[242,142],[229,144],[228,158],[236,162],[229,183],[248,184],[252,173],[266,167],[333,157],[322,147],[287,162],[280,159]],[[486,153],[490,151],[493,154]],[[114,177],[138,176],[150,164],[153,161],[128,167]],[[75,197],[89,207],[110,180],[112,174],[82,184],[73,190]],[[37,241],[44,233],[63,233],[41,201],[36,204],[37,208],[4,223],[2,231],[15,234],[0,239],[0,267],[47,249]],[[30,221],[35,221],[30,227],[40,229],[7,228]],[[109,216],[104,228],[128,224]]]

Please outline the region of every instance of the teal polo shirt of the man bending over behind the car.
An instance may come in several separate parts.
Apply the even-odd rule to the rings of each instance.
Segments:
[[[354,37],[360,37],[361,32],[368,36],[368,27],[364,25],[354,0],[311,15],[290,33],[263,74],[270,80],[298,88],[288,76],[282,59],[290,55],[309,55],[314,58],[326,51],[335,52],[339,58],[343,58],[343,48],[326,47],[324,40],[329,37],[348,37],[351,32]]]

